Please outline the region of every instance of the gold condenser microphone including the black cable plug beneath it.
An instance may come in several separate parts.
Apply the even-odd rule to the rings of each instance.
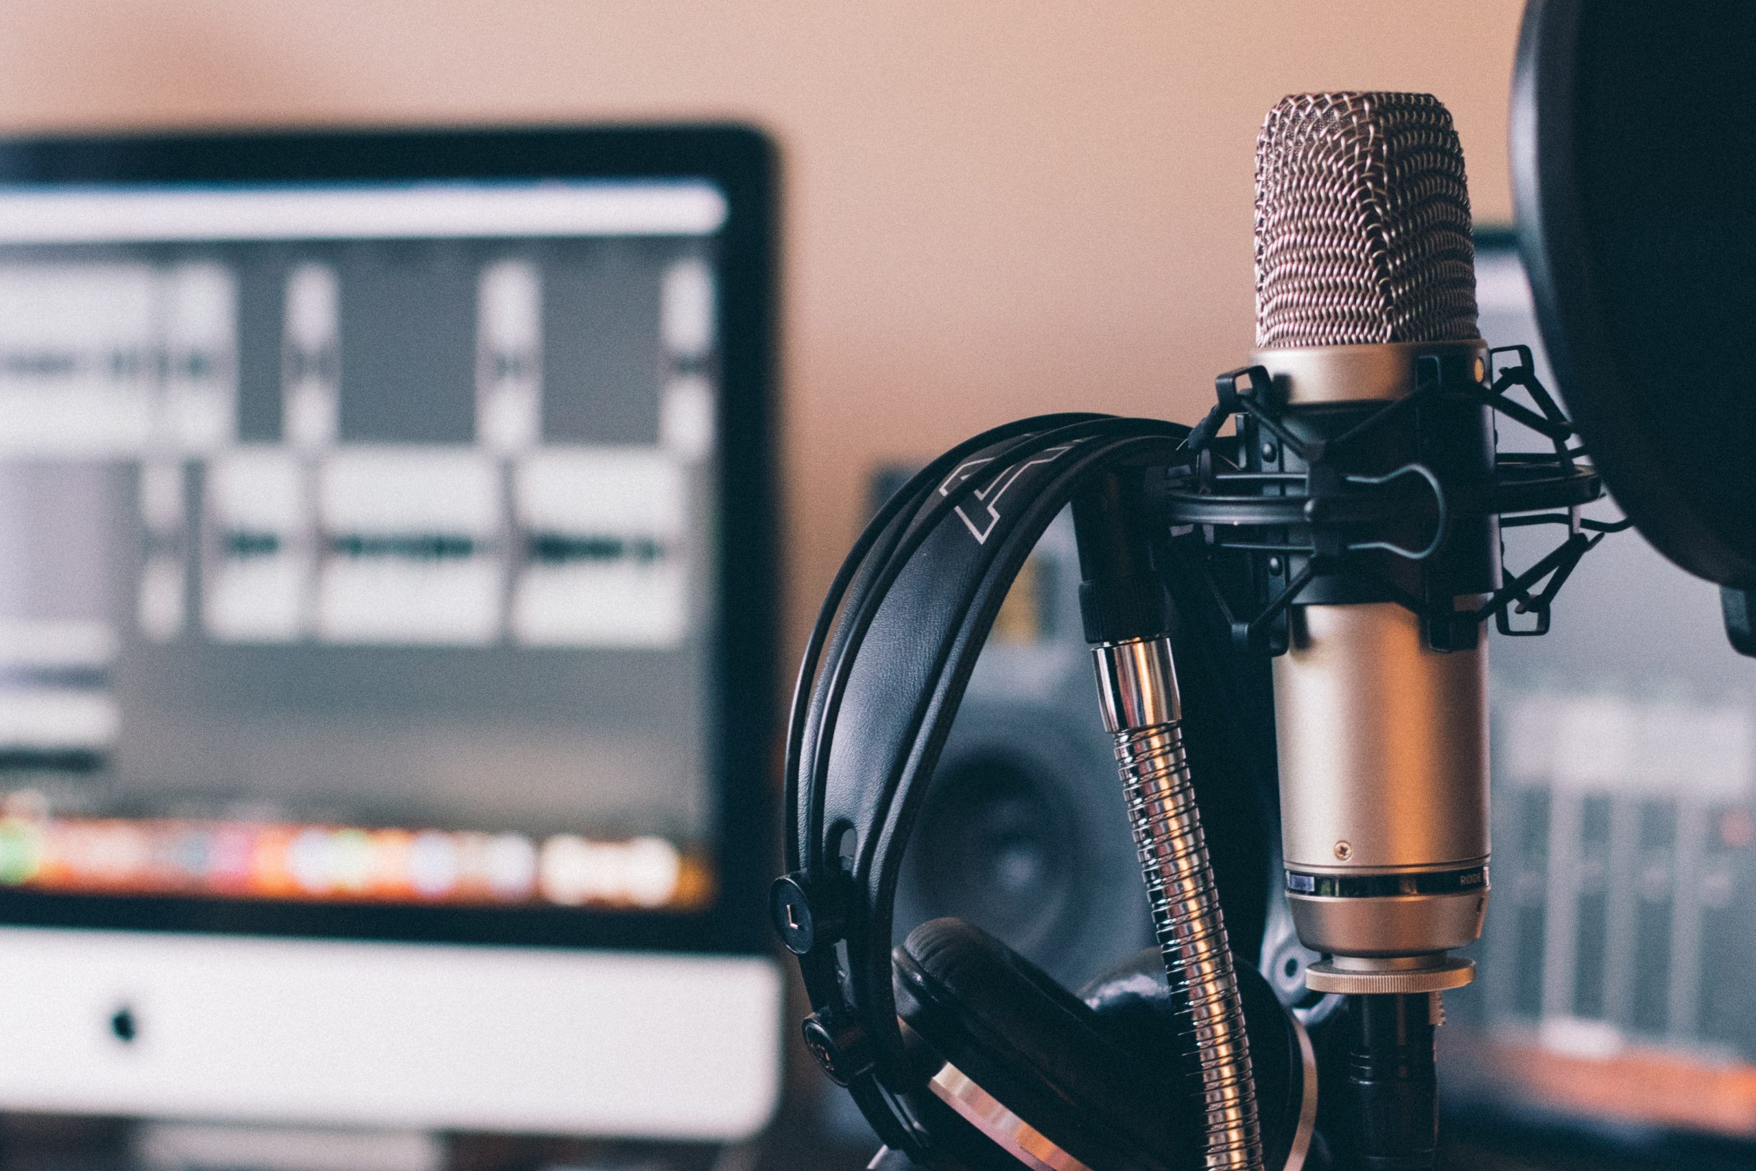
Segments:
[[[1436,98],[1315,93],[1268,114],[1256,309],[1252,363],[1298,441],[1268,435],[1252,453],[1270,474],[1310,472],[1445,369],[1486,381],[1463,151]],[[1480,936],[1487,904],[1487,651],[1473,618],[1435,629],[1394,597],[1401,581],[1426,609],[1463,614],[1500,585],[1494,518],[1443,506],[1456,485],[1493,481],[1487,411],[1442,409],[1412,404],[1331,469],[1352,485],[1407,481],[1407,509],[1400,532],[1347,546],[1377,558],[1380,579],[1306,574],[1273,664],[1287,899],[1322,953],[1310,987],[1357,997],[1357,1159],[1385,1169],[1429,1166],[1435,994],[1470,981],[1452,950]],[[1438,571],[1419,565],[1433,555]]]

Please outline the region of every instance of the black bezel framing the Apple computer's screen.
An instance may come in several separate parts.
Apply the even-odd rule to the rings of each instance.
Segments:
[[[778,158],[745,125],[191,132],[0,140],[0,184],[704,179],[720,230],[715,902],[704,911],[283,902],[0,888],[0,925],[760,953],[771,869],[778,629],[773,411]]]

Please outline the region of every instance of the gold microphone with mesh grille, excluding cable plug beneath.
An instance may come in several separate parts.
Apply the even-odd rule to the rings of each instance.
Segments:
[[[1463,151],[1436,98],[1317,93],[1268,114],[1256,305],[1252,360],[1310,435],[1410,395],[1422,360],[1486,360]],[[1429,442],[1493,474],[1473,428]],[[1470,544],[1491,588],[1494,542]],[[1306,946],[1331,957],[1312,985],[1457,987],[1470,966],[1447,952],[1477,938],[1487,888],[1487,651],[1433,650],[1410,609],[1328,585],[1301,593],[1275,658],[1289,895]]]

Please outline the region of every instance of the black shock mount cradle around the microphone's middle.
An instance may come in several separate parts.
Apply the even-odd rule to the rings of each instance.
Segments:
[[[1570,446],[1577,430],[1528,346],[1422,355],[1414,390],[1391,400],[1285,404],[1261,365],[1220,374],[1215,392],[1189,434],[1194,458],[1164,469],[1150,500],[1173,535],[1205,546],[1194,562],[1245,650],[1285,651],[1291,607],[1321,602],[1396,602],[1438,651],[1475,646],[1487,618],[1505,636],[1545,634],[1579,560],[1630,523],[1580,514],[1603,481]],[[1496,416],[1549,449],[1498,451]],[[1531,525],[1566,535],[1503,576],[1501,530]]]

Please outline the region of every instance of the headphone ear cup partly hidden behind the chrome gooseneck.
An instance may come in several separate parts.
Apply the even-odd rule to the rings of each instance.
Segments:
[[[1256,1076],[1256,1111],[1263,1131],[1263,1166],[1268,1171],[1313,1171],[1328,1166],[1312,1127],[1317,1118],[1317,1067],[1303,1025],[1275,995],[1254,966],[1233,957],[1243,1027],[1250,1038]],[[1098,1025],[1127,1045],[1140,1060],[1159,1067],[1173,1083],[1199,1083],[1199,1066],[1182,1050],[1164,960],[1147,948],[1080,990]],[[1187,1090],[1182,1092],[1185,1097]],[[1196,1132],[1203,1120],[1196,1118]]]

